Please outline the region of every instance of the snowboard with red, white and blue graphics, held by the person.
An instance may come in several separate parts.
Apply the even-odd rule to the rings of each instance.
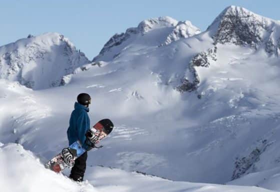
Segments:
[[[103,146],[96,146],[104,139],[113,129],[113,123],[109,119],[102,119],[98,121],[85,133],[85,143],[88,148],[83,148],[79,140],[72,143],[69,147],[62,149],[62,151],[54,156],[45,164],[45,168],[50,169],[56,173],[71,168],[74,166],[75,160],[84,152],[93,148],[101,148]]]

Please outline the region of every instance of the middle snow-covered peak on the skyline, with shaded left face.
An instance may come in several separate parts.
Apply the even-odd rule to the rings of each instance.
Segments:
[[[177,21],[169,16],[143,20],[137,27],[113,35],[93,61],[112,60],[132,45],[163,46],[198,33],[200,30],[188,20]]]

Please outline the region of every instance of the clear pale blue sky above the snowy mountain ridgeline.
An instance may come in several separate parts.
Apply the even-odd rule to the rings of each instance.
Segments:
[[[279,0],[1,0],[0,45],[59,32],[92,59],[113,34],[144,19],[171,16],[204,30],[229,5],[280,19]]]

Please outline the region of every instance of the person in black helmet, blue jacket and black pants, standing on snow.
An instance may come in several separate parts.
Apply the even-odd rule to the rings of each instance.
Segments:
[[[80,93],[77,96],[77,102],[74,104],[74,110],[71,113],[69,120],[69,127],[67,129],[67,138],[69,145],[79,140],[82,144],[82,147],[87,149],[88,146],[85,143],[86,137],[85,133],[90,128],[90,121],[87,115],[89,111],[89,104],[91,98],[87,93]],[[82,154],[75,160],[75,164],[71,169],[70,179],[82,182],[83,175],[86,167],[87,152]]]

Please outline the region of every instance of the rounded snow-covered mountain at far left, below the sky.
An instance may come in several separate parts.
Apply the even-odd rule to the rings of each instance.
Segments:
[[[0,47],[0,78],[33,89],[63,85],[62,77],[90,63],[63,35],[28,35]]]

